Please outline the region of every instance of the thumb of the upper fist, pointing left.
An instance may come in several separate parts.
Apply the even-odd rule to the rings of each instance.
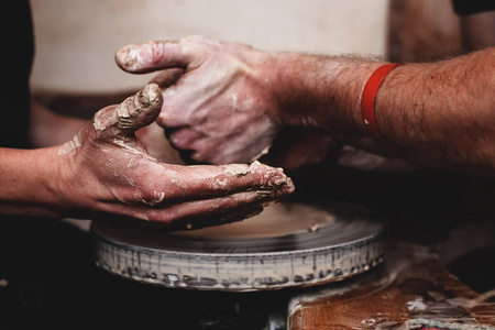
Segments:
[[[188,40],[182,38],[127,45],[116,52],[116,62],[120,68],[133,74],[187,67],[191,59],[187,44]]]

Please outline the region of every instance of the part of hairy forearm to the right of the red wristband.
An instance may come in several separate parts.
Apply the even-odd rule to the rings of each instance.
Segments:
[[[376,119],[399,156],[495,176],[495,48],[407,65],[387,78]]]

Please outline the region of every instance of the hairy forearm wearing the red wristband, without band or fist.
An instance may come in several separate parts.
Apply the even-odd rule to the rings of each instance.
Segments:
[[[396,68],[375,99],[378,131],[367,134],[361,95],[384,63],[276,54],[273,81],[283,124],[322,125],[341,142],[421,165],[493,176],[495,173],[495,48],[435,64]],[[280,69],[285,68],[285,69]]]

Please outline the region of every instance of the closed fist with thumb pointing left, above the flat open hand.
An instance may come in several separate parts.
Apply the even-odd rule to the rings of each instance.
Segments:
[[[162,70],[157,123],[188,160],[210,164],[250,163],[278,131],[278,107],[265,75],[270,55],[249,46],[191,36],[129,45],[118,65],[134,74]]]

